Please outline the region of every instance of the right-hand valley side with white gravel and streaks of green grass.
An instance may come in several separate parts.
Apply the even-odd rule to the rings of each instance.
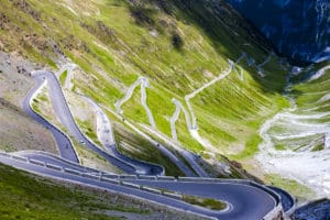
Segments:
[[[290,108],[262,127],[257,155],[268,172],[298,179],[320,198],[330,193],[329,69],[324,62],[292,76]]]

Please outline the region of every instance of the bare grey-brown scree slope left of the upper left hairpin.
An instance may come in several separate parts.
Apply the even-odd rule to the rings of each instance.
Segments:
[[[21,100],[34,84],[28,76],[33,68],[34,64],[15,54],[0,53],[0,148],[57,153],[53,136],[21,109]]]

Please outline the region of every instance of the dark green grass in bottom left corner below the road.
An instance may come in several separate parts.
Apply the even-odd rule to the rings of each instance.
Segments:
[[[102,215],[102,210],[142,212],[139,206],[114,204],[110,195],[82,191],[56,185],[50,180],[0,165],[1,219],[119,219]]]

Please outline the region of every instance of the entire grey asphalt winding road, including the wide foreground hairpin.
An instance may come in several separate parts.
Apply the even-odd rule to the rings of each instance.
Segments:
[[[230,64],[231,70],[233,63]],[[174,177],[157,177],[157,175],[162,175],[164,173],[164,169],[161,166],[128,158],[119,154],[116,145],[113,144],[109,144],[108,146],[110,150],[112,150],[110,153],[103,152],[80,132],[79,128],[75,123],[66,99],[63,95],[61,85],[55,75],[46,70],[38,70],[32,73],[32,76],[36,78],[37,85],[25,97],[23,101],[23,109],[34,120],[52,131],[57,142],[61,157],[53,154],[34,151],[16,152],[13,154],[0,153],[1,163],[37,175],[111,191],[118,191],[216,219],[267,219],[270,218],[268,216],[274,212],[274,210],[280,208],[280,198],[276,193],[267,187],[252,182],[210,178],[179,177],[176,179]],[[31,108],[32,100],[38,94],[40,89],[46,85],[48,86],[54,111],[56,112],[61,122],[66,127],[68,132],[77,140],[80,140],[86,147],[98,153],[127,173],[135,174],[136,176],[131,176],[124,180],[118,180],[121,178],[118,175],[84,167],[78,164],[77,155],[69,139],[56,127],[52,125],[44,118],[34,112]],[[178,113],[174,118],[174,121],[177,119],[177,117]],[[157,146],[161,147],[160,144],[157,144]],[[168,151],[165,150],[162,152]],[[180,154],[189,162],[194,170],[199,176],[208,176],[207,173],[197,164],[195,154],[185,150],[182,150]],[[169,153],[169,155],[173,154]],[[177,157],[174,156],[172,160],[177,160]],[[140,167],[141,169],[136,167]],[[140,177],[140,175],[156,176]],[[176,193],[176,196],[165,196],[163,193],[160,193],[158,189],[174,191]],[[177,195],[194,195],[223,200],[228,205],[228,208],[222,211],[210,210],[187,204],[179,199]]]

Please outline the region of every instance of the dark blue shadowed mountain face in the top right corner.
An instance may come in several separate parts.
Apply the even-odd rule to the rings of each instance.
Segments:
[[[330,59],[329,0],[227,0],[298,62]]]

